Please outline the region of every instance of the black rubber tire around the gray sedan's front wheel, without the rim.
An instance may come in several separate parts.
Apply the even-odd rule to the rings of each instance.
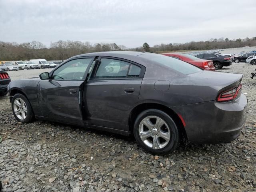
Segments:
[[[18,118],[16,116],[15,112],[14,112],[14,101],[17,98],[22,99],[25,102],[26,107],[27,107],[27,116],[24,120],[21,120],[20,118]],[[22,122],[22,123],[31,123],[34,120],[34,112],[32,110],[30,102],[28,101],[28,99],[24,95],[19,94],[19,93],[15,94],[12,98],[12,113],[13,113],[14,117],[16,118],[16,120],[18,120],[19,122]]]

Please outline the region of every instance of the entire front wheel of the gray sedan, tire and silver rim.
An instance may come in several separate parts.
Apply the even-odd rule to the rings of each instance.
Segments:
[[[34,119],[34,113],[28,99],[22,94],[15,94],[12,98],[12,113],[16,120],[22,123],[30,123]]]

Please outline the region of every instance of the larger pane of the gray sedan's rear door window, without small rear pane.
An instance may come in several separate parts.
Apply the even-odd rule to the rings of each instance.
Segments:
[[[95,78],[125,78],[129,66],[129,62],[102,58],[97,68]]]

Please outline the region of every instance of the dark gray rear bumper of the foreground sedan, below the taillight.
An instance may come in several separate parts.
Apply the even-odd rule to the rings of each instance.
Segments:
[[[230,102],[204,102],[172,108],[184,119],[190,142],[220,144],[237,138],[246,122],[247,98]]]

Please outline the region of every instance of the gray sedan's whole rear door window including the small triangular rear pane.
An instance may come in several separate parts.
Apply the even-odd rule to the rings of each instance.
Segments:
[[[129,72],[128,72],[129,70]],[[140,77],[141,68],[130,62],[102,58],[94,78],[133,78]]]

